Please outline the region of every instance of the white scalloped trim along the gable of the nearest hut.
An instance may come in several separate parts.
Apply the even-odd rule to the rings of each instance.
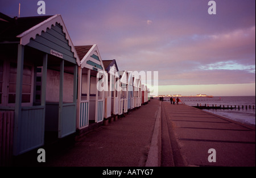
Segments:
[[[77,65],[80,65],[79,56],[77,55],[76,49],[72,43],[72,40],[68,34],[67,28],[60,14],[51,16],[50,18],[44,20],[43,22],[37,24],[34,27],[31,27],[30,29],[24,31],[20,35],[17,35],[16,37],[20,38],[20,44],[27,45],[28,43],[30,43],[31,38],[35,39],[36,35],[41,35],[43,31],[46,32],[47,29],[51,29],[52,25],[55,26],[56,23],[59,23],[63,27],[65,39],[68,40],[68,45],[71,47],[71,51],[73,52],[74,57],[76,58]]]

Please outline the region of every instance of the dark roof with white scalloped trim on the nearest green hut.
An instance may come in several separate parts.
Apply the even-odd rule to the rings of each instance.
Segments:
[[[46,32],[47,29],[51,29],[56,23],[60,24],[65,39],[68,40],[68,45],[71,47],[71,51],[76,58],[79,65],[79,57],[77,56],[75,47],[68,34],[67,28],[61,18],[61,15],[50,16],[30,16],[22,18],[10,18],[5,14],[0,14],[0,42],[11,42],[22,45],[30,43],[30,39],[35,39],[36,35],[41,35],[42,32]]]

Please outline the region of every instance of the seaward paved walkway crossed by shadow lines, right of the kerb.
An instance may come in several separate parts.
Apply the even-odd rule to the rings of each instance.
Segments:
[[[255,127],[187,105],[163,102],[163,108],[175,166],[255,167]],[[216,162],[208,162],[210,148]]]

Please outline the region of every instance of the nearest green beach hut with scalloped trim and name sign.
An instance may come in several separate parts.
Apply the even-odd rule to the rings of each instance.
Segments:
[[[79,57],[61,15],[0,13],[0,31],[0,115],[13,121],[1,136],[9,135],[13,154],[75,133]]]

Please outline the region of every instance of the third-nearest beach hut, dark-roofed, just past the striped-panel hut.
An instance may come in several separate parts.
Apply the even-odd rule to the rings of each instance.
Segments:
[[[117,118],[118,115],[118,104],[119,104],[119,93],[116,90],[115,85],[119,78],[118,67],[115,59],[113,60],[102,60],[105,71],[108,73],[108,90],[105,91],[105,112],[104,118],[109,119]]]

